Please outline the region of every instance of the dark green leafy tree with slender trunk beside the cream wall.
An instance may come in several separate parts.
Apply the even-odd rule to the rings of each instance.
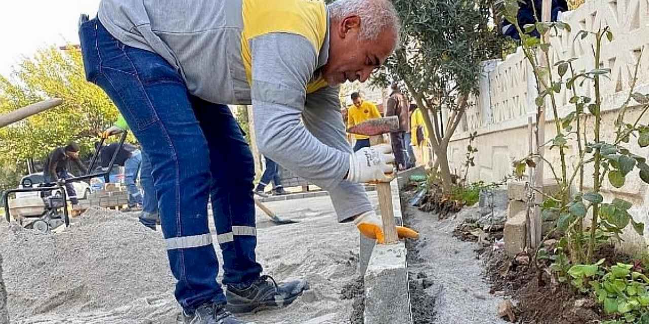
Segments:
[[[402,19],[401,47],[376,82],[402,80],[422,108],[437,156],[443,187],[450,189],[448,141],[463,118],[467,98],[478,92],[480,62],[498,56],[502,40],[489,29],[489,3],[484,0],[395,0]],[[439,110],[451,111],[448,121]],[[442,132],[439,127],[445,122]]]

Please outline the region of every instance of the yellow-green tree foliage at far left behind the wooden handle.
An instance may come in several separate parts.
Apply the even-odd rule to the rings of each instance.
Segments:
[[[106,93],[86,81],[78,49],[41,49],[14,67],[9,78],[0,75],[0,114],[53,97],[63,104],[0,128],[0,165],[43,159],[69,141],[77,141],[87,154],[97,133],[117,119]]]

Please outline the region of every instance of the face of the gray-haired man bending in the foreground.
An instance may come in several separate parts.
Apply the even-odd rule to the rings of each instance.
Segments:
[[[365,82],[372,71],[386,62],[395,47],[395,34],[384,30],[374,41],[359,40],[360,17],[350,16],[333,22],[330,29],[329,59],[322,68],[331,86],[345,81]]]

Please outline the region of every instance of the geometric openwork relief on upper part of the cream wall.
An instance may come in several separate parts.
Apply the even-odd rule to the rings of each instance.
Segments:
[[[576,73],[590,71],[593,68],[594,38],[575,40],[576,35],[580,30],[596,31],[609,26],[614,38],[612,42],[604,38],[600,64],[602,68],[611,69],[611,79],[602,78],[602,93],[606,100],[615,93],[628,90],[641,49],[643,46],[649,49],[649,46],[646,46],[649,45],[649,0],[591,0],[572,12],[564,13],[561,20],[569,23],[572,28],[570,32],[559,30],[556,37],[550,39],[550,64],[575,57],[577,60],[572,64]],[[646,84],[649,81],[648,67],[649,53],[645,53],[637,84]],[[558,76],[554,75],[554,79],[557,78]],[[486,86],[481,85],[480,95],[474,98],[475,111],[467,111],[469,131],[487,124],[524,120],[520,117],[536,110],[534,100],[537,93],[532,69],[520,49],[509,55],[506,60],[498,62],[493,71],[488,73],[486,80]],[[584,84],[578,95],[592,97],[593,93],[590,92],[591,87]],[[556,94],[558,106],[568,105],[570,97],[572,93],[562,89]],[[487,120],[485,111],[491,112]],[[551,117],[551,110],[547,111],[548,117]]]

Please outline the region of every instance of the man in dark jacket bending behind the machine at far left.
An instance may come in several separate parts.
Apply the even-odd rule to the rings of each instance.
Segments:
[[[72,178],[72,174],[68,171],[70,162],[74,162],[82,174],[86,173],[86,167],[79,159],[79,145],[70,142],[66,146],[55,148],[43,164],[43,177],[45,182],[58,182],[61,179]],[[70,202],[77,204],[77,192],[72,183],[66,183],[66,194],[70,198]]]

